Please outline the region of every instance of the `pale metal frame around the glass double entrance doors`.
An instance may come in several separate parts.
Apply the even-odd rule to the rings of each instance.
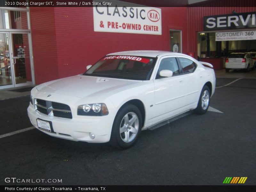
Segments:
[[[10,53],[10,64],[11,64],[11,75],[12,75],[12,84],[11,85],[1,85],[1,89],[21,87],[26,85],[34,85],[35,84],[35,72],[34,72],[34,62],[33,62],[33,52],[32,52],[32,41],[31,41],[31,33],[30,30],[27,29],[1,29],[1,34],[8,34],[8,44],[9,44],[9,53]],[[28,35],[28,46],[29,46],[29,61],[30,61],[30,70],[31,70],[31,79],[32,83],[20,83],[16,84],[15,81],[15,73],[14,73],[14,65],[13,65],[13,46],[12,46],[12,34],[27,34]]]

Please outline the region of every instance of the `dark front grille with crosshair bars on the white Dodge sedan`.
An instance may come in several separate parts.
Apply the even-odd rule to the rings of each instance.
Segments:
[[[35,99],[34,106],[38,112],[45,115],[72,119],[70,107],[66,104]]]

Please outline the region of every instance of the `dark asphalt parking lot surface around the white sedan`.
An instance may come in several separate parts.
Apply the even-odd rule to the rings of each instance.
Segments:
[[[36,183],[46,185],[223,185],[248,177],[243,185],[256,185],[256,79],[217,78],[217,86],[210,106],[219,112],[143,131],[127,150],[36,129],[0,138],[0,184],[26,184],[4,180],[15,177],[62,180]],[[32,126],[28,104],[29,96],[0,101],[0,137]]]

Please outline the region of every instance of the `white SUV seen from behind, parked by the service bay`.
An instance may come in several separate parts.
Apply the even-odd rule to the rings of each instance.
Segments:
[[[249,71],[254,69],[254,60],[250,53],[231,53],[225,62],[226,72],[230,69],[244,69]]]

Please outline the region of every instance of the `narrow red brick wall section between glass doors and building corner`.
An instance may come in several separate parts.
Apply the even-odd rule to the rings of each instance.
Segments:
[[[30,7],[36,84],[59,78],[53,8]]]

